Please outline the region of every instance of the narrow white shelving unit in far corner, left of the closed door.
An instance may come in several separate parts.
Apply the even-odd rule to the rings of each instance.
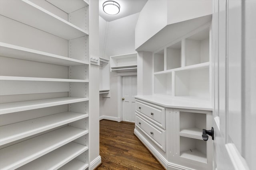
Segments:
[[[109,60],[100,57],[100,94],[107,94],[110,90]]]

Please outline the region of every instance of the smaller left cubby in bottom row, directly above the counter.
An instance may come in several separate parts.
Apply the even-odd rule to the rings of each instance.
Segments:
[[[154,93],[172,95],[172,73],[154,75]]]

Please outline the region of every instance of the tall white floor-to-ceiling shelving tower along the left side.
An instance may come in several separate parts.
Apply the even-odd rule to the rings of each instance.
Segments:
[[[88,169],[89,3],[0,1],[0,169]]]

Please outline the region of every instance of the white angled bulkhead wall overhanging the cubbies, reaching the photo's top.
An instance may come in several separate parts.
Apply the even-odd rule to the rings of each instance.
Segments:
[[[135,28],[135,49],[167,25],[210,14],[211,0],[148,0],[140,12]]]

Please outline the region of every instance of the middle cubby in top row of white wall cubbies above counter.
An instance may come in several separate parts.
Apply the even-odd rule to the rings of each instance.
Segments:
[[[181,41],[167,47],[167,70],[181,67]]]

